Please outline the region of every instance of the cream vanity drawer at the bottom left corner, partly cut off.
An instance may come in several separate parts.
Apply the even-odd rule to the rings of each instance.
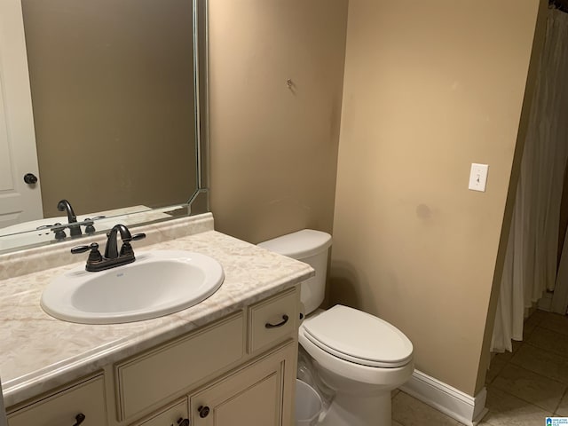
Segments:
[[[105,382],[103,376],[75,384],[8,415],[8,426],[65,426],[84,415],[82,426],[106,425]]]

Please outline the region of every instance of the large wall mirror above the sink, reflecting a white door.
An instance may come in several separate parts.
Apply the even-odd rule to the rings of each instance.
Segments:
[[[208,211],[206,0],[6,1],[25,36],[36,152],[17,152],[21,95],[4,69],[0,252],[71,238],[64,199],[83,235]],[[0,36],[14,33],[0,24]],[[25,192],[40,207],[22,220]]]

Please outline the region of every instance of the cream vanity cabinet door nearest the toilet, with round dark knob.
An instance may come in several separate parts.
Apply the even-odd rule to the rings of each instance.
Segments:
[[[193,426],[290,425],[296,341],[190,395]]]

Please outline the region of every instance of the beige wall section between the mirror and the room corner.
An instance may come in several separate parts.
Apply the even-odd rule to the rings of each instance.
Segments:
[[[209,0],[218,231],[331,232],[346,23],[347,0]]]

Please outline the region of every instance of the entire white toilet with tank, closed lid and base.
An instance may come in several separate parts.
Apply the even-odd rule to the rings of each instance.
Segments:
[[[258,244],[310,264],[315,277],[302,283],[307,315],[298,331],[314,371],[335,397],[319,425],[390,426],[390,390],[414,371],[413,346],[383,319],[336,304],[318,310],[325,294],[331,236],[304,229]]]

